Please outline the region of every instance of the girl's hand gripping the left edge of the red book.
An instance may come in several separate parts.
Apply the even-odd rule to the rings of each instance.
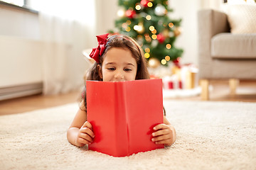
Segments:
[[[90,122],[86,121],[78,132],[78,137],[76,139],[76,143],[78,146],[90,145],[95,137],[92,132],[92,125]]]

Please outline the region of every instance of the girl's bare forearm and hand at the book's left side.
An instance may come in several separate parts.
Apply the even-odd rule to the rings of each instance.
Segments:
[[[82,103],[83,102],[81,102],[81,106]],[[92,125],[86,120],[87,115],[85,109],[79,108],[78,113],[76,113],[75,118],[70,125],[70,128],[68,128],[68,142],[78,147],[83,147],[86,144],[89,145],[92,142],[94,138]]]

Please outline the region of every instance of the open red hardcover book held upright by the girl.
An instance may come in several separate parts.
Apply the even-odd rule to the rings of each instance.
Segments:
[[[87,120],[95,139],[89,149],[125,157],[163,148],[151,141],[163,123],[161,79],[86,81]]]

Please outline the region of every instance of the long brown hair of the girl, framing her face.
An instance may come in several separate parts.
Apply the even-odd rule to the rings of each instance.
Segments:
[[[105,55],[107,54],[108,50],[112,47],[121,47],[132,52],[132,57],[137,62],[137,74],[135,79],[149,79],[149,72],[146,67],[146,59],[144,57],[144,52],[142,47],[132,38],[128,37],[127,35],[112,35],[107,38],[107,44],[105,45],[106,49],[103,54],[100,56],[100,62],[92,66],[92,68],[87,72],[87,76],[85,77],[86,80],[96,80],[102,81],[100,77],[100,70],[97,68],[98,65],[102,66],[102,62],[104,60]],[[86,107],[86,88],[82,91],[82,98],[84,99],[85,108]]]

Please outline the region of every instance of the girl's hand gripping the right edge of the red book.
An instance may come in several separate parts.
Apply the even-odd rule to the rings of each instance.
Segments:
[[[164,123],[156,125],[155,132],[152,133],[151,139],[155,144],[164,144],[165,146],[171,146],[176,140],[176,132],[172,125],[166,125]]]

